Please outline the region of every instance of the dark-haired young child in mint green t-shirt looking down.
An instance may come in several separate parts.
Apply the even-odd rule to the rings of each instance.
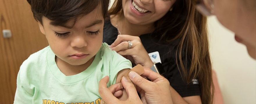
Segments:
[[[102,43],[109,0],[27,1],[49,46],[21,65],[14,103],[99,104],[99,80],[119,83],[131,68]]]

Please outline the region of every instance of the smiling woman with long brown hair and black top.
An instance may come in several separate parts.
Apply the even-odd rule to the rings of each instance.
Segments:
[[[104,23],[103,42],[147,68],[153,66],[148,53],[158,51],[163,76],[175,89],[174,102],[211,103],[206,18],[191,0],[115,0]]]

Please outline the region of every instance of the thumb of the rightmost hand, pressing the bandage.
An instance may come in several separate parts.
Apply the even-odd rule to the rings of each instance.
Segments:
[[[131,79],[131,81],[137,85],[138,87],[140,87],[142,90],[144,90],[145,92],[148,92],[152,89],[152,84],[153,82],[148,81],[147,79],[141,77],[140,75],[138,75],[137,73],[131,71],[129,73],[129,78]]]

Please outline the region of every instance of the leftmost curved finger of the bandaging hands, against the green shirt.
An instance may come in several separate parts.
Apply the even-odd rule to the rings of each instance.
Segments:
[[[102,78],[99,81],[99,95],[106,103],[118,102],[118,99],[112,94],[112,92],[107,88],[107,83],[109,82],[109,76]]]

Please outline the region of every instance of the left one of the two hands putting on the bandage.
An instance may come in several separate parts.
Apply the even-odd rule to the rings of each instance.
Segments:
[[[108,76],[102,78],[99,81],[99,94],[102,97],[102,102],[104,101],[105,104],[142,104],[142,101],[137,94],[136,88],[131,82],[127,81],[125,77],[122,77],[121,83],[128,94],[128,99],[126,101],[120,101],[118,98],[116,98],[122,94],[120,85],[115,84],[107,88],[108,82]]]

